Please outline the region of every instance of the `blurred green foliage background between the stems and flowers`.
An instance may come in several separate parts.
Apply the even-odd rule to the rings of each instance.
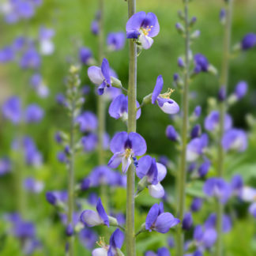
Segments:
[[[105,36],[108,32],[125,31],[127,21],[127,4],[123,0],[106,0],[104,6]],[[220,70],[222,58],[223,25],[219,21],[220,9],[224,1],[195,0],[190,5],[190,16],[198,18],[196,28],[201,31],[201,36],[194,42],[192,49],[194,53],[200,52],[205,55],[209,62]],[[12,42],[15,36],[36,36],[40,25],[55,29],[55,52],[53,55],[43,57],[40,72],[44,81],[51,90],[47,100],[39,99],[28,85],[29,71],[24,72],[15,63],[0,65],[0,104],[8,96],[21,95],[24,93],[28,103],[36,102],[42,106],[46,115],[40,125],[29,125],[24,127],[25,134],[32,136],[38,149],[43,153],[43,166],[40,169],[27,168],[26,173],[32,174],[46,184],[45,190],[57,190],[66,186],[66,168],[56,160],[58,146],[53,139],[57,130],[65,130],[66,111],[55,102],[58,92],[65,92],[64,79],[70,66],[70,60],[78,60],[78,49],[81,46],[90,47],[93,54],[97,56],[97,39],[90,32],[90,25],[97,10],[97,2],[91,0],[44,0],[43,5],[36,11],[35,17],[18,24],[6,24],[0,20],[0,47]],[[138,58],[137,70],[137,96],[141,102],[143,96],[152,92],[156,83],[156,77],[162,74],[164,77],[164,88],[172,87],[172,77],[178,71],[177,58],[183,55],[183,38],[175,30],[178,21],[177,12],[182,8],[181,1],[170,0],[138,0],[137,11],[156,13],[160,22],[160,34],[155,38],[150,51],[143,51]],[[254,0],[236,0],[234,4],[232,44],[238,43],[247,32],[256,32],[256,2]],[[107,54],[111,67],[118,73],[122,85],[126,87],[128,78],[128,44],[122,51]],[[238,81],[245,80],[249,85],[247,96],[231,108],[230,113],[234,119],[234,125],[248,130],[246,115],[256,116],[256,51],[249,51],[234,56],[231,62],[230,79],[228,91],[232,92]],[[87,77],[87,68],[81,71],[82,85],[90,85]],[[218,76],[201,74],[190,85],[191,94],[190,110],[201,105],[203,115],[208,113],[209,97],[215,97],[218,91]],[[175,91],[173,98],[180,102],[179,91]],[[96,112],[96,96],[94,87],[86,96],[84,108]],[[203,118],[201,119],[203,122]],[[137,132],[145,137],[148,152],[158,156],[168,156],[175,161],[177,154],[174,145],[165,137],[165,128],[171,124],[171,119],[158,107],[146,106],[142,109],[141,118],[137,121]],[[112,136],[117,130],[125,130],[126,126],[121,121],[115,121],[107,117],[107,132]],[[10,153],[10,143],[17,127],[0,119],[0,155],[6,156]],[[232,174],[243,175],[248,185],[256,185],[256,133],[250,130],[250,144],[241,156],[230,156],[226,163],[226,177]],[[109,155],[110,156],[110,155]],[[96,154],[84,154],[77,160],[77,179],[81,179],[96,165]],[[165,181],[165,186],[172,193],[171,185],[173,179]],[[0,214],[13,211],[14,193],[12,175],[0,177]],[[113,204],[122,209],[125,205],[123,191],[117,191],[113,195]],[[139,199],[138,204],[143,207],[152,205],[152,200]],[[239,207],[239,206],[238,206]],[[36,223],[39,237],[45,245],[43,251],[36,255],[63,255],[64,232],[62,224],[59,223],[55,209],[47,205],[44,193],[40,195],[29,195],[27,201],[27,219]],[[214,209],[214,208],[213,208]],[[205,209],[205,212],[209,209]],[[227,252],[225,256],[252,256],[256,254],[256,232],[254,220],[247,215],[246,209],[239,209],[242,220],[235,224],[230,235],[224,237]],[[204,215],[204,210],[201,215]],[[143,220],[137,217],[137,223]],[[200,214],[198,220],[200,219]],[[2,220],[1,220],[2,222]],[[0,235],[4,224],[0,222]],[[60,235],[62,234],[62,235]],[[150,239],[144,239],[143,235],[138,240],[138,250],[157,248],[164,244],[165,236],[153,235]],[[1,247],[0,240],[0,247]],[[89,255],[89,251],[77,243],[79,255]],[[0,248],[0,255],[20,255],[18,243],[15,239],[5,239],[5,244]]]

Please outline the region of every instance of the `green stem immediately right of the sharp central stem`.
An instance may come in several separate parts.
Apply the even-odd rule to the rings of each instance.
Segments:
[[[182,122],[182,148],[179,163],[178,178],[178,216],[183,220],[185,212],[185,195],[186,195],[186,144],[189,125],[189,79],[190,79],[190,32],[188,17],[188,0],[184,0],[185,14],[185,70],[184,70],[184,88],[183,88],[183,122]],[[184,235],[181,225],[177,232],[177,255],[183,256]]]

